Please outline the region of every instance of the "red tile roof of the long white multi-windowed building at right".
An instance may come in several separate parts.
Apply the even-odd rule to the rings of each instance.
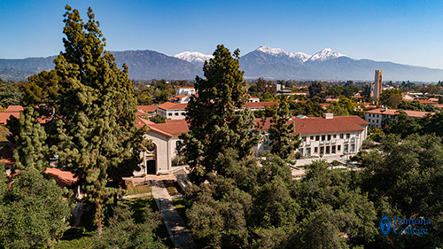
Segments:
[[[260,122],[261,119],[256,119],[256,122]],[[368,125],[368,122],[362,120],[358,116],[340,116],[333,117],[332,119],[324,119],[319,117],[310,117],[299,119],[292,117],[291,121],[295,124],[294,134],[325,134],[336,132],[349,132],[349,131],[361,131],[364,128],[361,126]],[[268,130],[270,127],[270,118],[268,118],[261,130]]]

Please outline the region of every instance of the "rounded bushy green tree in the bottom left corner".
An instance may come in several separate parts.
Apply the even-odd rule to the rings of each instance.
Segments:
[[[12,175],[5,189],[0,170],[0,245],[5,248],[46,248],[63,235],[71,215],[66,191],[53,179],[28,167]]]

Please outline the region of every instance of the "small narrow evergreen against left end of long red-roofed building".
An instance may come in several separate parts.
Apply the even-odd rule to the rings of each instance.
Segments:
[[[280,101],[268,130],[271,152],[282,159],[287,159],[301,143],[300,135],[292,134],[295,128],[293,122],[288,123],[290,119],[289,102],[284,98]]]

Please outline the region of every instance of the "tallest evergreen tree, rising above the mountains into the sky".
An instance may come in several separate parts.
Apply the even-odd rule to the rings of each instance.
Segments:
[[[83,22],[80,13],[66,5],[65,51],[54,60],[59,88],[55,105],[59,163],[79,178],[100,231],[104,201],[115,193],[106,186],[108,171],[127,167],[125,162],[136,153],[136,97],[128,66],[121,71],[105,51],[105,38],[90,8],[88,18]]]

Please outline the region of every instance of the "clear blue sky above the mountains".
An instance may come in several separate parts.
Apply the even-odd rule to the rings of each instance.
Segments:
[[[27,1],[0,0],[0,58],[63,50],[66,4],[88,7],[109,51],[211,54],[223,43],[241,54],[261,45],[314,54],[443,69],[443,1]]]

